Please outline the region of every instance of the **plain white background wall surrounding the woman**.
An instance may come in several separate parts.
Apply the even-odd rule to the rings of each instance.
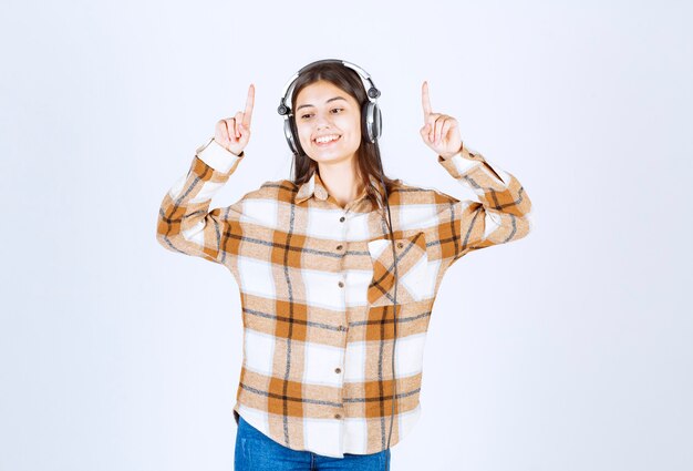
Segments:
[[[2,10],[2,471],[232,469],[238,287],[159,246],[157,211],[250,83],[213,207],[289,178],[281,88],[325,58],[381,89],[387,175],[468,196],[418,134],[428,80],[534,203],[527,238],[447,273],[392,469],[693,469],[690,3]]]

